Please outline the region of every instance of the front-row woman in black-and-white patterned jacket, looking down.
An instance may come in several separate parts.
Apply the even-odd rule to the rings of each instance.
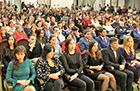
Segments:
[[[61,76],[65,72],[59,58],[54,57],[54,47],[50,44],[44,46],[42,57],[36,64],[37,77],[44,80],[41,86],[43,91],[63,91],[64,82]]]

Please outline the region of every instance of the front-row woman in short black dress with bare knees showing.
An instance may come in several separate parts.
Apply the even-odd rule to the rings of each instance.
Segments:
[[[106,91],[108,86],[112,87],[113,91],[116,91],[116,80],[114,76],[102,70],[103,58],[101,52],[98,50],[98,42],[93,40],[88,45],[88,51],[84,54],[84,67],[94,71],[94,74],[89,75],[93,80],[103,80],[102,91]]]

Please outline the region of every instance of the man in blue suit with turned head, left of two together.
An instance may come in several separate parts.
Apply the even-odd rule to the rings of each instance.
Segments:
[[[94,39],[91,37],[91,32],[90,32],[90,30],[85,30],[83,34],[84,34],[84,37],[80,38],[79,43],[78,43],[81,52],[87,51],[89,41],[94,40]]]

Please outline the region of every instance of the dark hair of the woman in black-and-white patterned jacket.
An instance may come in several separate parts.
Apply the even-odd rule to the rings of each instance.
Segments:
[[[43,52],[42,52],[42,56],[41,56],[42,59],[46,60],[46,56],[47,56],[48,53],[51,52],[52,48],[53,48],[53,51],[55,51],[54,47],[53,47],[51,44],[49,44],[49,43],[47,43],[47,44],[44,46]]]

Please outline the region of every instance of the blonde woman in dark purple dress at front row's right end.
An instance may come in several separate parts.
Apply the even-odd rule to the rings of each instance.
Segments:
[[[136,59],[133,38],[131,36],[125,37],[120,49],[127,63],[126,68],[137,74],[140,83],[140,63]],[[140,84],[138,87],[140,88]]]

